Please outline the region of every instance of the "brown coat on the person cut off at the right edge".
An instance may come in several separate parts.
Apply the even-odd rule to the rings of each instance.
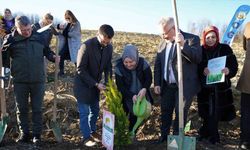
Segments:
[[[246,51],[246,57],[236,89],[242,93],[250,94],[250,37],[246,38],[246,36],[244,36],[243,48]]]

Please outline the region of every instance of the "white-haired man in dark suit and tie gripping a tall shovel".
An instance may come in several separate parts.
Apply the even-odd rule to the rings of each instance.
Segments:
[[[176,42],[180,44],[183,67],[184,124],[192,103],[192,97],[200,90],[197,74],[197,64],[201,61],[202,52],[198,36],[180,31],[175,32],[174,19],[162,18],[159,22],[162,31],[154,66],[154,92],[161,96],[161,138],[167,140],[175,110],[173,134],[178,134],[178,72]]]

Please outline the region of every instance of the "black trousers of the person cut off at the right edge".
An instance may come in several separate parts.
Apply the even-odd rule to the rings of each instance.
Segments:
[[[240,140],[250,143],[250,94],[241,93]]]

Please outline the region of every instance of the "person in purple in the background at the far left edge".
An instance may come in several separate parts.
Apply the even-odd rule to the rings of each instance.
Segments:
[[[3,28],[6,34],[11,33],[12,28],[15,26],[15,18],[9,8],[4,10],[4,16],[2,18]]]

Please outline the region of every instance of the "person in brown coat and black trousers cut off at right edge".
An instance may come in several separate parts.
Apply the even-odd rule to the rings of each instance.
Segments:
[[[245,26],[243,48],[246,51],[245,61],[236,87],[241,92],[240,148],[250,149],[250,22]]]

